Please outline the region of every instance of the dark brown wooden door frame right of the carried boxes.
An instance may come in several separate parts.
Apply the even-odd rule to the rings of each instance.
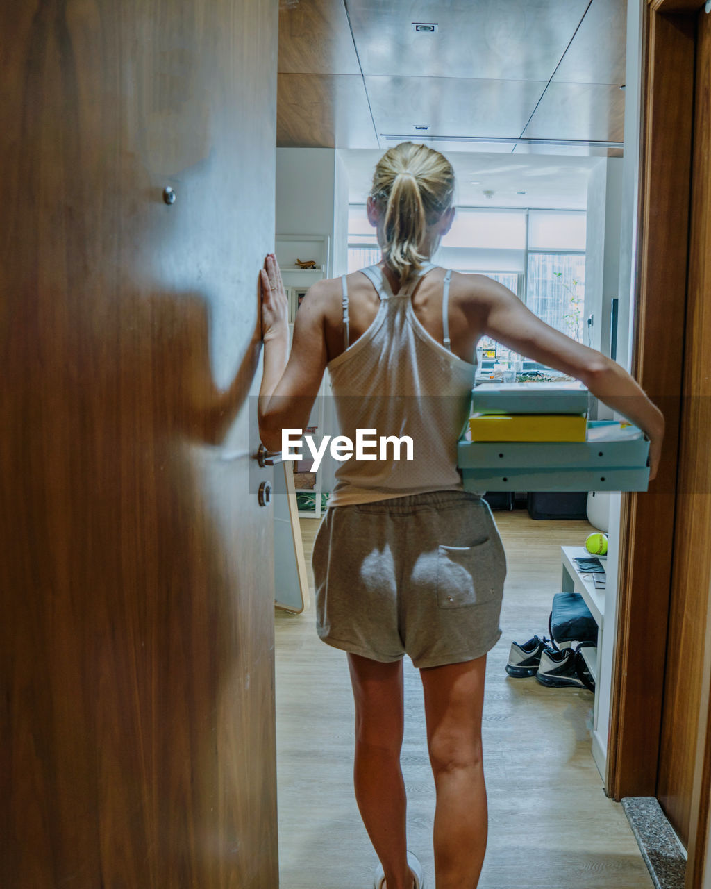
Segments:
[[[657,788],[683,396],[696,18],[703,5],[699,0],[648,0],[644,13],[638,284],[630,372],[665,413],[667,433],[650,491],[622,495],[619,630],[605,775],[606,792],[617,800],[656,796]],[[657,261],[660,256],[664,262]],[[710,685],[707,646],[702,701],[711,698]],[[701,719],[685,889],[698,889],[703,878],[709,792],[711,721],[707,725]]]

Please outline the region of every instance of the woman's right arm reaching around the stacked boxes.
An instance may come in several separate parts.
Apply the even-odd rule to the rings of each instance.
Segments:
[[[657,475],[664,415],[617,362],[541,321],[515,293],[485,276],[475,280],[473,300],[483,334],[539,364],[580,380],[592,394],[627,417],[650,439],[650,480]]]

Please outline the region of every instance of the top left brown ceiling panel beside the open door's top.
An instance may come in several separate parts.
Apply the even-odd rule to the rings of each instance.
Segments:
[[[301,0],[279,6],[279,71],[361,73],[342,0]]]

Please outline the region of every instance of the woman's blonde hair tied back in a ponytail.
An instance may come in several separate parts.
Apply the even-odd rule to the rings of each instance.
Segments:
[[[371,197],[383,220],[383,258],[407,284],[427,260],[427,228],[451,207],[454,171],[433,148],[402,142],[380,158]]]

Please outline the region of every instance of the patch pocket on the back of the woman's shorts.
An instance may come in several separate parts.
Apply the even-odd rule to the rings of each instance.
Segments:
[[[437,605],[464,608],[491,602],[502,579],[499,549],[489,538],[473,547],[437,547]]]

